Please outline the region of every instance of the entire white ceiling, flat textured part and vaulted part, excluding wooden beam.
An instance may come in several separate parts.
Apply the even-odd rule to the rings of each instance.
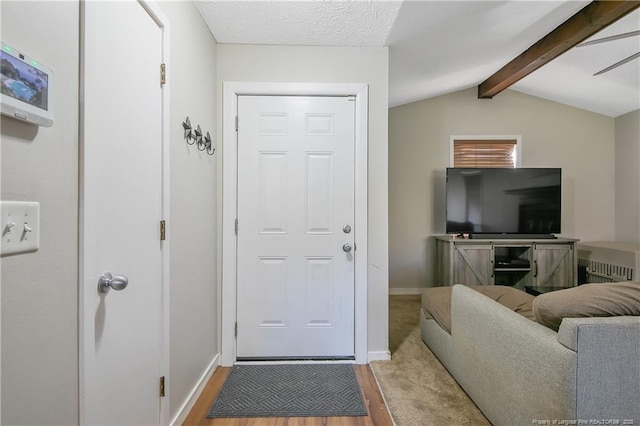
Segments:
[[[479,85],[589,1],[198,1],[218,43],[389,46],[390,107]],[[640,9],[510,88],[616,117],[640,109]],[[633,35],[635,34],[635,35]],[[500,95],[497,95],[500,96]]]

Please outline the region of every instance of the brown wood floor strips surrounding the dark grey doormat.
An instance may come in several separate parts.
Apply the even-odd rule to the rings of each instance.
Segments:
[[[229,376],[231,368],[218,367],[198,398],[189,416],[183,423],[186,426],[387,426],[393,422],[382,399],[380,389],[368,365],[354,365],[358,383],[362,390],[368,416],[362,417],[269,417],[241,419],[207,419],[222,385]]]

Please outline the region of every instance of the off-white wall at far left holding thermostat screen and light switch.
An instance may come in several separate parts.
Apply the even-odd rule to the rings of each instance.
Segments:
[[[78,422],[79,5],[2,1],[2,41],[55,70],[56,117],[2,116],[2,200],[40,202],[40,249],[3,257],[2,424]]]

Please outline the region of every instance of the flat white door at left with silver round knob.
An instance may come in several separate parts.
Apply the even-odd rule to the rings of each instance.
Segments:
[[[160,423],[162,29],[136,1],[84,2],[81,423]],[[104,272],[128,286],[98,291]]]

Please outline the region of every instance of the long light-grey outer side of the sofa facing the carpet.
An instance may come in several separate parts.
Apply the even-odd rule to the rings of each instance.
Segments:
[[[452,373],[493,424],[575,418],[576,353],[556,332],[455,285],[451,338]]]

